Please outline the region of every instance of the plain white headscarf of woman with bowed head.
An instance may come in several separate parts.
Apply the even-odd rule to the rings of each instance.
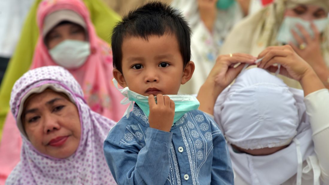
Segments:
[[[243,71],[219,96],[214,108],[228,144],[245,149],[288,147],[270,155],[237,153],[229,145],[232,166],[249,184],[282,184],[314,154],[303,91],[289,88],[264,69]],[[291,142],[293,141],[293,142]]]

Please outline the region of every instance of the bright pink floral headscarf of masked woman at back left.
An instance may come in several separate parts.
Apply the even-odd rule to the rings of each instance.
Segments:
[[[40,36],[31,68],[57,66],[44,44],[43,20],[48,14],[64,9],[78,13],[85,20],[91,49],[87,62],[80,68],[69,71],[81,85],[91,110],[118,121],[122,118],[127,106],[120,104],[120,100],[124,97],[115,89],[112,82],[112,50],[105,41],[96,35],[88,9],[81,0],[45,0],[40,3],[37,13]],[[111,30],[109,30],[110,32]]]

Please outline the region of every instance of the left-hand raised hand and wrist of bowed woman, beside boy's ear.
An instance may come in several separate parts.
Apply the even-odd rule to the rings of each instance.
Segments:
[[[213,115],[218,95],[233,82],[246,64],[254,64],[255,61],[256,57],[243,53],[218,56],[215,66],[197,95],[199,110]],[[236,66],[239,63],[241,64]]]

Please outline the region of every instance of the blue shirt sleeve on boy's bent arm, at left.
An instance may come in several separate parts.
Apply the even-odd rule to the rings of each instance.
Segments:
[[[115,132],[110,132],[109,136]],[[118,184],[164,184],[170,170],[169,149],[171,132],[148,128],[145,146],[138,142],[104,142],[104,154]],[[118,141],[118,140],[116,140]]]

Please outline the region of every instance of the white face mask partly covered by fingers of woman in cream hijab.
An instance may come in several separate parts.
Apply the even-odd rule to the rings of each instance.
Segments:
[[[326,26],[328,24],[328,18],[315,19],[315,20],[313,20],[313,23],[315,24],[316,29],[321,33],[324,31],[324,29],[326,28]],[[296,24],[302,25],[304,27],[304,29],[310,34],[310,36],[314,37],[314,33],[311,28],[310,21],[306,21],[306,20],[304,20],[302,18],[298,18],[298,17],[287,16],[287,17],[285,17],[285,19],[283,20],[283,22],[281,24],[281,27],[278,32],[276,40],[278,40],[281,43],[288,44],[291,41],[294,44],[297,44],[297,41],[295,40],[295,38],[293,37],[293,35],[291,33],[291,29],[296,31],[299,36],[303,37],[303,35],[299,31],[299,29],[296,27]]]

